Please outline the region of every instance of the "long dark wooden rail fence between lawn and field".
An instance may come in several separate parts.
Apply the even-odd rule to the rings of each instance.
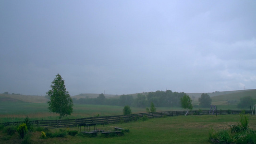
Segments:
[[[162,111],[162,112],[147,112],[138,113],[131,115],[117,115],[117,116],[104,116],[104,117],[89,117],[82,119],[70,119],[70,120],[31,120],[30,123],[35,126],[46,127],[46,128],[63,128],[63,127],[77,127],[81,124],[110,124],[118,122],[128,122],[133,120],[139,120],[143,117],[148,119],[162,118],[162,117],[172,117],[181,115],[227,115],[227,114],[240,114],[244,112],[245,114],[251,114],[251,110],[215,110],[214,112],[210,110],[191,110],[191,111]],[[18,125],[23,121],[17,122],[5,122],[1,123],[4,126]]]

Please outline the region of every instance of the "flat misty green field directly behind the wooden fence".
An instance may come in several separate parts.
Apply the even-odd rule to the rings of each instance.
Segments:
[[[0,123],[30,120],[58,120],[59,115],[50,113],[47,103],[0,102]],[[122,115],[123,107],[105,105],[74,104],[71,116],[64,119],[78,119],[94,116]],[[144,113],[146,108],[131,107],[133,113]],[[171,111],[181,108],[157,108],[157,111]]]

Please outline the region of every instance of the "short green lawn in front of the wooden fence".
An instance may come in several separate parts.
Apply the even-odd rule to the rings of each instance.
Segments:
[[[256,116],[247,116],[250,129],[256,129]],[[42,139],[41,132],[31,133],[29,141],[41,144],[210,144],[208,142],[209,131],[223,129],[231,124],[237,124],[239,115],[202,115],[202,116],[177,116],[149,119],[146,121],[134,121],[128,123],[116,123],[110,125],[98,125],[97,129],[113,131],[114,127],[129,129],[123,136],[85,137],[83,135],[64,138]],[[82,128],[83,129],[83,128]],[[62,128],[64,130],[64,128]],[[78,128],[69,128],[70,131],[78,131]],[[51,132],[58,132],[59,129],[51,129]],[[0,131],[0,143],[10,144],[21,142],[17,132],[6,140],[6,134]]]

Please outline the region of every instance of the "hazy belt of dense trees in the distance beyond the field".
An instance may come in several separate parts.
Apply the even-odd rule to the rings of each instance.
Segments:
[[[113,105],[113,106],[133,106],[138,108],[145,108],[150,106],[151,102],[156,107],[181,107],[180,99],[185,93],[167,91],[149,92],[146,95],[137,94],[136,97],[132,95],[121,95],[119,98],[106,98],[104,94],[100,94],[97,98],[73,98],[73,103],[78,104],[94,104],[94,105]]]

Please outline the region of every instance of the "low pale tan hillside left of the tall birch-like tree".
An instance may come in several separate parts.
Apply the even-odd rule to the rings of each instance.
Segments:
[[[29,103],[47,103],[49,99],[45,96],[27,96],[27,95],[5,95],[0,94],[0,102],[29,102]]]

